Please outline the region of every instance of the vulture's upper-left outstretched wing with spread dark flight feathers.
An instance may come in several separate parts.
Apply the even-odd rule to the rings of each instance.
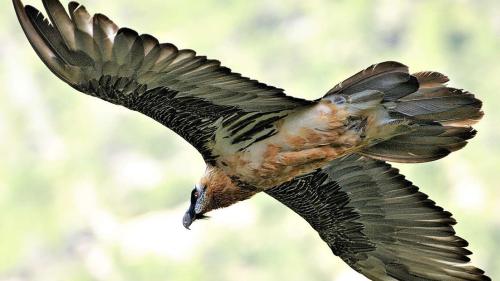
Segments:
[[[81,92],[159,121],[207,162],[216,157],[211,148],[217,128],[229,128],[233,144],[248,142],[269,136],[273,121],[310,103],[192,50],[118,28],[76,2],[69,3],[68,15],[58,0],[43,0],[50,21],[20,0],[13,3],[31,45],[54,74]]]

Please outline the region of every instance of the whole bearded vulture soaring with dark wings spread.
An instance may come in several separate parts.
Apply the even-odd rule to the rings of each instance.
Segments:
[[[265,192],[302,216],[372,280],[490,280],[470,265],[456,221],[387,162],[420,163],[465,146],[481,101],[438,72],[372,65],[317,100],[287,96],[217,60],[119,28],[70,2],[48,18],[13,0],[45,65],[85,94],[179,134],[207,168],[183,224]]]

